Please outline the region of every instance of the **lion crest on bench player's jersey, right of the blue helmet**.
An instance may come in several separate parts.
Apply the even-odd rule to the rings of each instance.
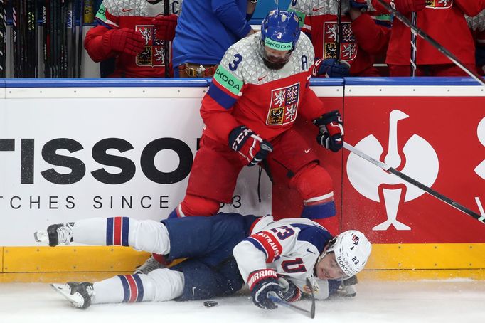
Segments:
[[[340,41],[341,60],[353,60],[357,56],[356,38],[353,36],[351,23],[342,22],[342,39]],[[337,28],[336,21],[324,22],[324,58],[337,58]]]

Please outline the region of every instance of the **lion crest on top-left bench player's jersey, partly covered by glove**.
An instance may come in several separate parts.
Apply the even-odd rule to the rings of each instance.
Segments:
[[[145,39],[145,49],[137,55],[138,66],[164,66],[165,41],[156,38],[156,28],[153,25],[137,25],[135,31]]]

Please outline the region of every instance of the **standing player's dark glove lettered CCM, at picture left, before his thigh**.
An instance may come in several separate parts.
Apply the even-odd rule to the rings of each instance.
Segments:
[[[229,147],[238,152],[247,162],[247,166],[254,166],[273,151],[270,142],[261,139],[246,126],[235,127],[229,134]]]

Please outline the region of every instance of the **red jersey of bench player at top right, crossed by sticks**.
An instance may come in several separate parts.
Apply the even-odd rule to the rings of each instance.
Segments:
[[[390,3],[390,0],[385,1]],[[474,40],[464,14],[476,16],[484,9],[485,0],[427,0],[426,4],[425,9],[417,12],[417,27],[451,51],[461,63],[474,64]],[[410,19],[411,14],[406,16]],[[409,65],[410,41],[410,28],[395,18],[386,63]],[[417,65],[452,64],[451,60],[419,36],[416,47]]]

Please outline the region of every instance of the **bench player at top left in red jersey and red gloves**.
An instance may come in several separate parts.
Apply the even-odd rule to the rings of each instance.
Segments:
[[[164,43],[174,39],[182,0],[170,1],[169,16],[163,16],[164,1],[102,1],[98,26],[87,32],[84,41],[90,58],[100,62],[114,57],[112,78],[164,78]]]

